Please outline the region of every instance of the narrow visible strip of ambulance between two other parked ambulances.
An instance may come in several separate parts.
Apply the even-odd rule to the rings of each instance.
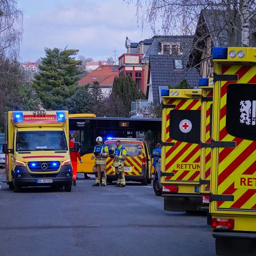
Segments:
[[[207,224],[211,224],[209,215],[209,193],[212,163],[212,101],[213,101],[213,79],[200,78],[199,87],[202,90],[201,96],[201,158],[200,158],[200,194],[202,195],[202,210],[207,212]]]

